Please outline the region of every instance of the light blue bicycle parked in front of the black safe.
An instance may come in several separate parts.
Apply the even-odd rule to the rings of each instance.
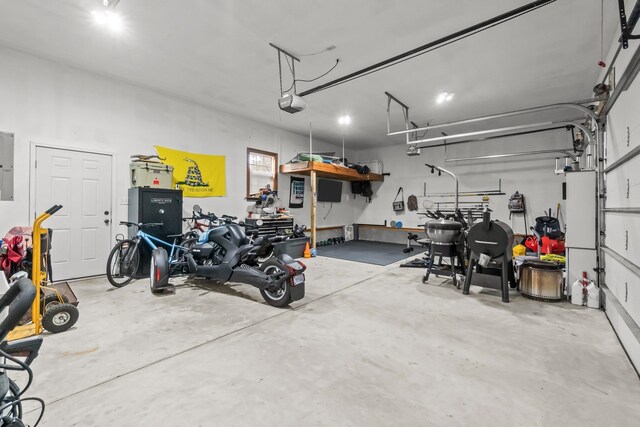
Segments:
[[[142,228],[162,227],[162,223],[137,224],[121,221],[120,225],[135,227],[137,232],[132,239],[125,239],[120,235],[121,237],[117,239],[118,243],[107,258],[107,279],[113,286],[121,288],[134,279],[140,265],[141,242],[144,242],[152,251],[157,249],[158,245],[165,246],[169,250],[169,275],[188,271],[184,254],[196,243],[197,238],[192,234],[169,235],[167,237],[173,239],[173,243],[169,243],[142,230]]]

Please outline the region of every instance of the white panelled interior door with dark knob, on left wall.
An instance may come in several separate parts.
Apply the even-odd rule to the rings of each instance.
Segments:
[[[53,229],[54,280],[104,274],[111,236],[109,155],[36,147],[35,210],[63,208],[46,220]]]

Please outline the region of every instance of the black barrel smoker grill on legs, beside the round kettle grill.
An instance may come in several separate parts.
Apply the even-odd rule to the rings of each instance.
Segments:
[[[486,267],[493,261],[498,263],[501,269],[502,302],[509,302],[509,278],[513,277],[511,264],[513,230],[511,227],[502,221],[492,221],[490,212],[485,210],[482,222],[477,223],[469,230],[467,243],[471,257],[462,293],[469,294],[474,268],[478,265]]]

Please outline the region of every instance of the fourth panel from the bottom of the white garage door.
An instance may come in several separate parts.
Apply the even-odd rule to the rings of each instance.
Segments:
[[[640,206],[640,156],[607,174],[607,207]]]

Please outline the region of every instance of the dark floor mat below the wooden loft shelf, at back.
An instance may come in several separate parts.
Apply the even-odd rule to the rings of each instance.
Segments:
[[[402,252],[404,248],[406,248],[406,245],[397,243],[352,240],[336,245],[320,246],[317,250],[319,256],[375,265],[393,264],[394,262],[413,257],[425,251],[425,248],[414,247],[413,252],[405,254]]]

